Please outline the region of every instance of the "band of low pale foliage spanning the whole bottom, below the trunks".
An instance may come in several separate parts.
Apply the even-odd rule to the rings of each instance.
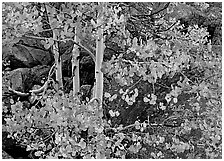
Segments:
[[[136,121],[126,127],[111,127],[102,119],[96,100],[80,104],[69,94],[55,93],[40,104],[27,109],[13,103],[12,117],[5,119],[9,137],[33,158],[221,157],[221,105],[213,99],[192,97],[173,105],[175,114],[160,123]]]

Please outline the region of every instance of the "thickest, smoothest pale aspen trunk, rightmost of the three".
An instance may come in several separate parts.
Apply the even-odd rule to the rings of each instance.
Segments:
[[[97,26],[101,25],[101,17],[97,19]],[[102,62],[104,54],[104,39],[103,39],[103,29],[99,27],[97,30],[97,39],[96,39],[96,64],[95,64],[95,78],[96,86],[94,97],[100,101],[102,105],[103,100],[103,73],[101,72]]]

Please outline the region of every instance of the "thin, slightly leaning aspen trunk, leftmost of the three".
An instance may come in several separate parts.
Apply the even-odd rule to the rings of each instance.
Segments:
[[[57,39],[54,32],[53,32],[53,39]],[[54,59],[56,64],[56,81],[58,82],[58,89],[63,89],[62,61],[61,61],[61,56],[59,54],[58,42],[54,42],[53,44],[53,53],[54,53]]]

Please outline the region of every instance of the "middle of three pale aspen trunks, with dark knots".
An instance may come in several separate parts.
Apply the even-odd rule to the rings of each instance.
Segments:
[[[75,37],[74,41],[76,43],[79,42],[79,38],[77,36],[78,27],[75,28]],[[73,77],[73,96],[79,92],[80,89],[80,77],[79,77],[79,60],[77,57],[80,55],[80,51],[77,45],[74,44],[72,50],[72,77]]]

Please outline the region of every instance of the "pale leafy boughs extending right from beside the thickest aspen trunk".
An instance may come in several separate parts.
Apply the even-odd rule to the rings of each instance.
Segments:
[[[189,69],[192,66],[198,67],[201,59],[203,62],[204,55],[201,55],[200,52],[204,51],[203,48],[207,48],[203,44],[207,41],[206,36],[208,33],[204,29],[199,29],[195,26],[189,28],[189,33],[182,34],[178,31],[180,28],[181,26],[178,26],[173,33],[170,33],[170,36],[173,38],[169,41],[164,40],[156,43],[154,40],[148,40],[146,44],[141,43],[139,45],[138,39],[134,38],[131,47],[125,55],[135,53],[137,57],[134,60],[125,59],[125,55],[112,57],[110,61],[104,63],[103,72],[114,77],[120,86],[127,87],[133,84],[136,77],[155,84],[158,80],[162,80],[167,76],[172,78],[177,73],[181,73],[184,76],[182,73],[184,69]],[[174,33],[175,35],[173,35]],[[141,40],[139,41],[141,42]],[[184,83],[185,85],[190,83],[190,80],[185,76]],[[137,90],[135,89],[135,91]],[[122,96],[125,97],[130,92],[128,88],[126,92],[122,93]],[[175,93],[171,95],[175,99],[178,96]],[[136,93],[135,96],[138,96],[138,94]],[[170,96],[167,95],[167,99],[169,99],[168,97]],[[146,102],[148,102],[147,99],[147,97],[144,97]]]

